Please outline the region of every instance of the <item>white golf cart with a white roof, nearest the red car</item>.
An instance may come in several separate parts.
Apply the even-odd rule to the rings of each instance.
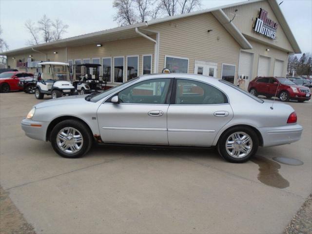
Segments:
[[[51,95],[52,98],[77,95],[72,84],[69,64],[64,62],[40,62],[41,75],[37,80],[35,97],[42,99],[44,95]]]

